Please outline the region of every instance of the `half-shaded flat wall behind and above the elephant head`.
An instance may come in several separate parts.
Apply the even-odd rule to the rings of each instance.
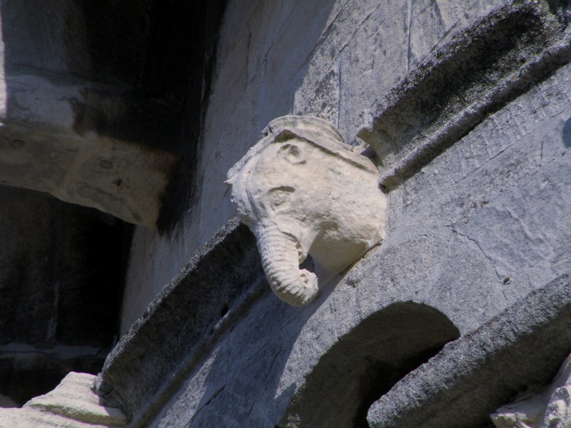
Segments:
[[[423,58],[503,0],[229,1],[208,98],[196,203],[172,235],[138,228],[122,332],[233,217],[226,173],[271,119],[331,121],[348,140]],[[239,130],[239,131],[238,131]]]

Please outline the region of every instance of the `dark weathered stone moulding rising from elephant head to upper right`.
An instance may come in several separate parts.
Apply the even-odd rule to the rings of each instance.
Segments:
[[[568,16],[547,1],[510,1],[453,37],[362,113],[358,137],[393,188],[487,116],[571,61]]]

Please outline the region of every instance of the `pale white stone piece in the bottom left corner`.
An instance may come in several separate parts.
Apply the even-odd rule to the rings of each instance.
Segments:
[[[94,375],[69,373],[48,394],[34,397],[21,409],[0,409],[0,428],[108,428],[126,424],[119,409],[106,407],[93,392]]]

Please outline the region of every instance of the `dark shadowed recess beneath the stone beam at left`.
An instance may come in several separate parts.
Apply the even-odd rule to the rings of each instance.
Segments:
[[[46,193],[0,187],[0,394],[19,404],[116,342],[133,226]]]

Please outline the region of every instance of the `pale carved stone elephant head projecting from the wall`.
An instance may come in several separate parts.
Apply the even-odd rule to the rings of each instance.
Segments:
[[[271,121],[226,183],[236,214],[256,235],[273,292],[290,305],[312,301],[385,236],[377,168],[323,119]]]

